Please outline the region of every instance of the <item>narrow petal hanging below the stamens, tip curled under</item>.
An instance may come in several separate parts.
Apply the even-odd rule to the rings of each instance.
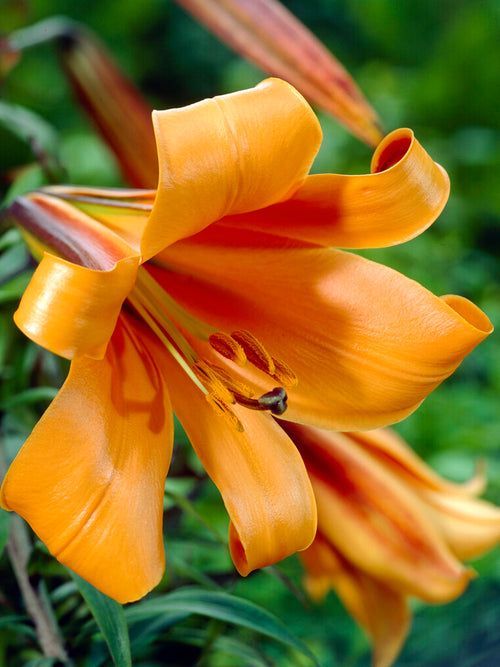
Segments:
[[[238,572],[305,549],[316,532],[316,504],[296,447],[268,415],[230,406],[240,428],[218,414],[175,363],[167,361],[174,411],[217,485],[231,519]]]

